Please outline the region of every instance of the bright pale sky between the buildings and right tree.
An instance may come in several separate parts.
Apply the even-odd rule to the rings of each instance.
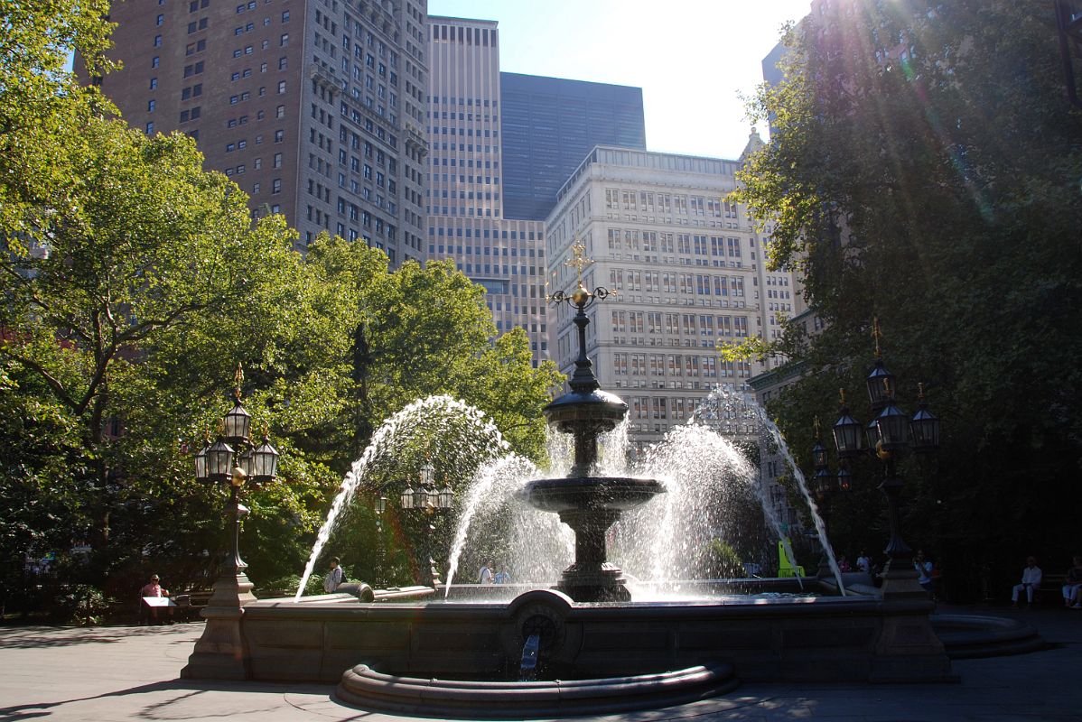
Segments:
[[[497,21],[500,69],[643,89],[646,147],[739,158],[741,95],[810,0],[428,0],[430,15]],[[765,125],[760,134],[767,136]]]

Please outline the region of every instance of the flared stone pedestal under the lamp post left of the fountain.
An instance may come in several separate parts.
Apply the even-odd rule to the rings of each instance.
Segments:
[[[188,664],[181,670],[183,679],[247,680],[251,677],[251,660],[240,633],[240,621],[245,604],[255,601],[253,586],[243,570],[214,583],[214,593],[201,613],[207,627],[188,656]]]

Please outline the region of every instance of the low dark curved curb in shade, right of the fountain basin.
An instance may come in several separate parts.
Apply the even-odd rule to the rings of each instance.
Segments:
[[[934,614],[929,619],[951,659],[1000,657],[1047,647],[1037,629],[1020,619],[977,614]]]

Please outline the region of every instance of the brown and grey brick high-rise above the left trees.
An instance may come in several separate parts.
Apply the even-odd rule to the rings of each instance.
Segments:
[[[114,3],[102,80],[128,122],[180,130],[207,168],[319,231],[424,253],[426,0],[141,0]]]

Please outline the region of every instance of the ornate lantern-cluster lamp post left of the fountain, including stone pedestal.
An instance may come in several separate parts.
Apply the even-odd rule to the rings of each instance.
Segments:
[[[202,617],[207,627],[196,642],[195,652],[181,671],[185,678],[247,679],[248,657],[240,636],[240,619],[245,604],[255,601],[252,583],[245,573],[248,564],[240,558],[240,520],[248,509],[240,504],[240,487],[251,480],[256,483],[273,481],[278,473],[278,452],[263,429],[263,441],[256,446],[249,438],[252,417],[240,403],[240,384],[245,374],[237,364],[237,385],[233,390],[234,406],[220,425],[221,436],[195,455],[198,481],[228,483],[228,550],[219,567],[219,578],[213,593],[207,601]]]

